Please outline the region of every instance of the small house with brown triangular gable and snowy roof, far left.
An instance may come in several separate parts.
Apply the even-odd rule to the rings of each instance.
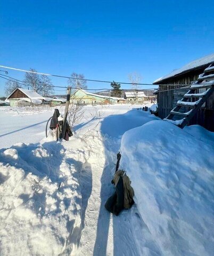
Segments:
[[[22,107],[32,104],[39,105],[42,104],[43,100],[45,100],[45,98],[35,91],[17,88],[5,101],[10,102],[11,107]]]

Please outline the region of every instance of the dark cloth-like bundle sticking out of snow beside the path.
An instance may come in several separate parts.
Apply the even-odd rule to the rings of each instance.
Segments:
[[[116,187],[116,192],[106,201],[105,209],[118,215],[123,209],[129,209],[134,204],[134,190],[130,186],[128,176],[121,170],[116,172],[111,183]]]

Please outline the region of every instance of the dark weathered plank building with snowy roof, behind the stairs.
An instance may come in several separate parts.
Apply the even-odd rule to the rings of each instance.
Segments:
[[[176,106],[177,101],[182,99],[183,95],[187,93],[190,84],[195,82],[204,69],[213,62],[214,54],[210,54],[201,59],[194,60],[153,82],[153,84],[159,85],[157,92],[159,117],[163,119],[168,116],[170,110]],[[202,93],[203,90],[206,89],[199,89],[198,93]],[[184,112],[189,110],[190,108],[183,107]],[[214,131],[214,94],[211,95],[188,123],[188,125],[192,124],[199,124],[210,131]]]

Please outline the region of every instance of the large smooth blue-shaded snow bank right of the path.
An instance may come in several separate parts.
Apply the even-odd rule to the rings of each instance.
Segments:
[[[155,244],[158,255],[214,251],[213,137],[199,127],[190,127],[192,135],[187,130],[151,121],[127,131],[121,141],[120,168],[131,179],[149,230],[144,238],[153,241],[146,250]]]

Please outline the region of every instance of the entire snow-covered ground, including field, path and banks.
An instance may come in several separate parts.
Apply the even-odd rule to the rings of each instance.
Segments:
[[[0,108],[1,255],[213,255],[214,134],[138,107],[87,106],[63,142],[53,109]],[[116,217],[119,149],[136,204]]]

